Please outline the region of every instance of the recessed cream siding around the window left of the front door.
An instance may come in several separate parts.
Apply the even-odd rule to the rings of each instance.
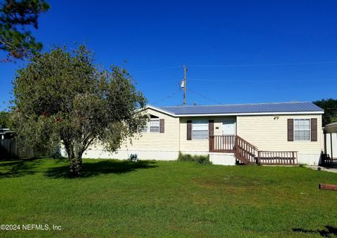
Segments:
[[[180,118],[180,151],[182,152],[208,152],[209,140],[187,140],[187,121],[214,120],[214,135],[223,134],[223,120],[234,117],[181,117]]]

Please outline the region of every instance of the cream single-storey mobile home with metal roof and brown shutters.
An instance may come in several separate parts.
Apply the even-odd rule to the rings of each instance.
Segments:
[[[154,107],[133,143],[117,153],[100,145],[84,157],[176,160],[178,153],[209,154],[213,164],[319,164],[322,114],[309,102]]]

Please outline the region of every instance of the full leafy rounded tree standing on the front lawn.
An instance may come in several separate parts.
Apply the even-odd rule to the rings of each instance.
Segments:
[[[18,140],[41,149],[64,145],[73,175],[82,154],[101,142],[111,152],[132,140],[147,122],[146,99],[121,67],[93,64],[84,46],[72,53],[56,47],[32,58],[13,81],[11,113]]]

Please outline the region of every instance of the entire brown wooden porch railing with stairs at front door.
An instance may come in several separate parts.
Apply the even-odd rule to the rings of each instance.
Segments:
[[[209,136],[209,152],[234,153],[239,164],[297,164],[297,152],[259,151],[256,146],[239,135]]]

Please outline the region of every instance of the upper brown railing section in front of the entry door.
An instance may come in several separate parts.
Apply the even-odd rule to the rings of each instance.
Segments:
[[[209,152],[234,153],[235,135],[211,135]]]

